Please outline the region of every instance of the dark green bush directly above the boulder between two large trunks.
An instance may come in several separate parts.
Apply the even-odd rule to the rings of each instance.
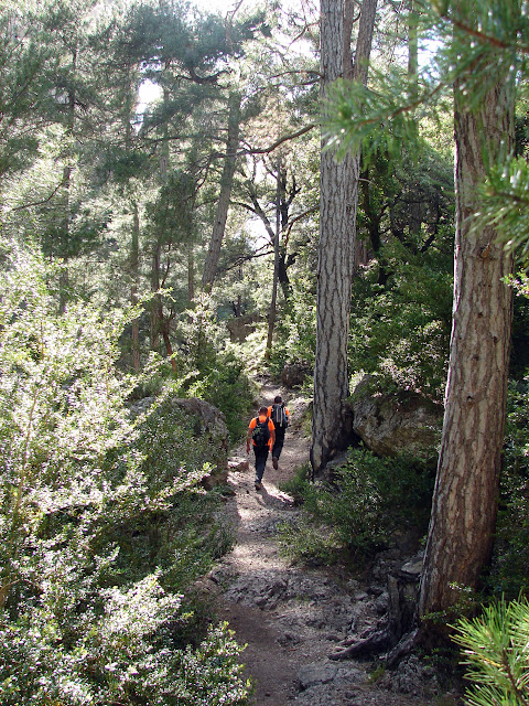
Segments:
[[[452,261],[412,257],[386,246],[390,282],[373,281],[376,267],[356,278],[350,319],[352,371],[379,373],[388,383],[442,399],[452,308]]]

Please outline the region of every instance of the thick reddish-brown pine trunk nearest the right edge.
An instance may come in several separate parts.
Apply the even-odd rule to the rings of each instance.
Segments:
[[[507,84],[508,86],[508,84]],[[511,329],[511,259],[494,228],[472,229],[475,189],[514,135],[505,77],[468,110],[455,86],[456,243],[446,407],[419,612],[444,611],[452,585],[475,588],[496,523]]]

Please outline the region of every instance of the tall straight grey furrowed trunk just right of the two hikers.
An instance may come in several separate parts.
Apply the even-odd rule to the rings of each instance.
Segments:
[[[354,68],[350,58],[352,0],[321,2],[322,100],[337,78],[367,79],[376,0],[364,0]],[[311,463],[319,473],[348,440],[343,400],[349,394],[347,343],[350,285],[355,269],[359,154],[337,162],[322,142],[320,243],[316,295],[316,357]]]

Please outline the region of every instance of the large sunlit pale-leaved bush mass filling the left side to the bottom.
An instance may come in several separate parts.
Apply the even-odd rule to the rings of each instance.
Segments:
[[[225,627],[179,645],[175,587],[226,538],[197,531],[207,515],[185,473],[150,484],[125,404],[137,381],[116,365],[137,312],[74,302],[58,315],[42,259],[0,248],[0,702],[247,704]]]

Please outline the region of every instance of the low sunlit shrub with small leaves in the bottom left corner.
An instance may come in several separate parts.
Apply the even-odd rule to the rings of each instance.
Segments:
[[[2,706],[249,704],[233,633],[210,627],[198,648],[175,649],[166,628],[181,620],[179,597],[165,596],[154,576],[108,590],[94,610],[85,605],[67,634],[53,612],[35,607],[17,622],[1,620]]]

